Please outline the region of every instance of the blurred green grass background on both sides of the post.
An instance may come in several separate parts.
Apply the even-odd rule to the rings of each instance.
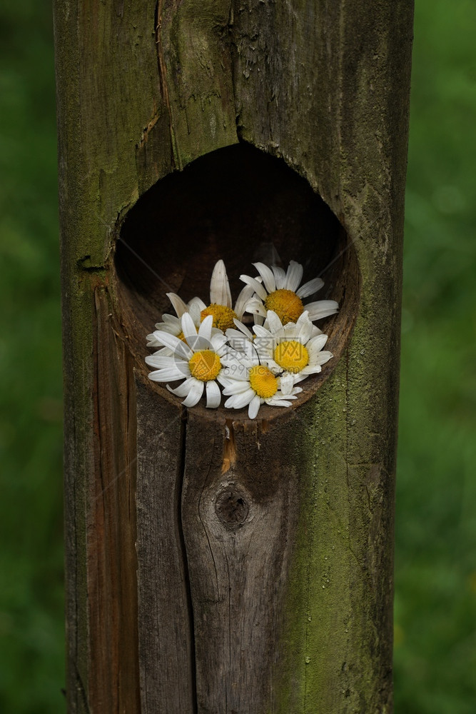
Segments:
[[[397,481],[396,714],[476,712],[476,3],[417,0]],[[64,711],[51,8],[0,6],[0,711]]]

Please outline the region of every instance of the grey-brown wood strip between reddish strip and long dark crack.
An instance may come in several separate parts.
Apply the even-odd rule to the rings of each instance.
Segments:
[[[137,383],[141,712],[195,711],[195,664],[181,524],[181,408]]]

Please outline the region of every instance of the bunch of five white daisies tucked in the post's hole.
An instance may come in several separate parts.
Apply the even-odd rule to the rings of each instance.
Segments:
[[[196,406],[205,392],[206,406],[217,408],[223,393],[226,408],[248,406],[254,419],[261,404],[291,406],[302,391],[298,383],[332,357],[323,350],[328,336],[314,323],[336,313],[338,303],[303,303],[323,280],[300,286],[303,266],[295,261],[286,272],[254,266],[258,276],[240,276],[245,286],[234,307],[223,261],[213,269],[208,306],[201,298],[184,303],[167,293],[176,315],[163,315],[147,336],[147,346],[158,351],[146,363],[153,367],[149,378],[166,383],[187,407]],[[254,324],[247,326],[251,320]]]

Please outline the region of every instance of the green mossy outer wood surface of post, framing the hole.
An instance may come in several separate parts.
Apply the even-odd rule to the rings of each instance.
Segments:
[[[94,637],[93,291],[111,282],[127,207],[159,178],[236,143],[238,132],[308,178],[355,241],[363,275],[348,355],[298,415],[290,473],[300,516],[270,711],[391,711],[411,14],[409,0],[134,0],[117,11],[56,2],[72,712],[88,711]]]

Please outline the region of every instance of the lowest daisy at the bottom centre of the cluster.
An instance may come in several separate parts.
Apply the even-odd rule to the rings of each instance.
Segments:
[[[241,409],[248,406],[248,417],[254,419],[261,404],[271,406],[291,406],[291,400],[302,391],[293,387],[284,395],[280,379],[270,369],[260,363],[260,358],[252,343],[246,343],[243,352],[228,351],[223,357],[225,371],[218,376],[223,395],[228,396],[227,408]]]

